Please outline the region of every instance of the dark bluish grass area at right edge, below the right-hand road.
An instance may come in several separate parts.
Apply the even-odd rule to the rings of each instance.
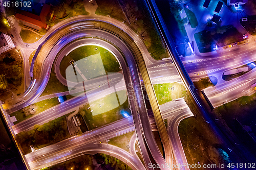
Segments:
[[[247,148],[248,155],[256,152],[256,93],[250,96],[242,96],[237,100],[225,103],[215,110],[223,125],[228,126],[240,140],[241,145]],[[242,125],[242,126],[241,126]],[[226,128],[227,129],[227,128]],[[231,134],[231,133],[229,133]],[[253,140],[253,139],[254,140]],[[245,151],[244,151],[245,152]]]

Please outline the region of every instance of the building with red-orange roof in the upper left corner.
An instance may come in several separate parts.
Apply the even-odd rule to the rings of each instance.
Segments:
[[[15,18],[20,20],[20,22],[22,22],[24,26],[27,26],[29,28],[35,30],[40,30],[41,28],[44,28],[47,30],[47,16],[51,16],[51,5],[44,4],[44,6],[42,6],[42,10],[39,16],[27,11],[19,10],[18,13],[16,13]]]

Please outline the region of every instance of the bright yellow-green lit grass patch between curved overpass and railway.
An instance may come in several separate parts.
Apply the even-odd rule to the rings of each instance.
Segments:
[[[179,83],[155,84],[154,90],[159,105],[186,95],[186,88]]]

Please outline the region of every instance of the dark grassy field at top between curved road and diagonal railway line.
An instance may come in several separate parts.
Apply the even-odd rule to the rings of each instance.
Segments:
[[[161,60],[169,57],[145,2],[119,0],[119,3],[120,5],[117,0],[97,1],[96,14],[110,15],[112,18],[124,21],[127,26],[139,35],[154,59]]]

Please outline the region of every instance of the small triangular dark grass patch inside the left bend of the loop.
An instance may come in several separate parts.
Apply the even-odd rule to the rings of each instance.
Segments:
[[[55,69],[54,66],[52,66],[49,81],[46,85],[45,90],[42,92],[40,96],[69,91],[69,88],[63,85],[62,83],[60,83],[59,80],[56,78],[54,74],[54,69]]]

